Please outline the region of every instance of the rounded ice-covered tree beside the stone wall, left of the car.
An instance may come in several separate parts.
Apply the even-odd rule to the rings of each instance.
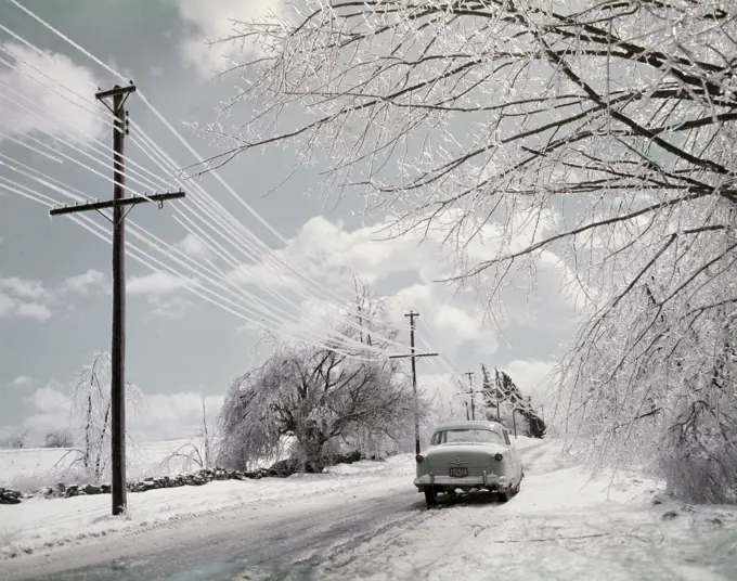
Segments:
[[[269,360],[233,382],[219,417],[220,465],[244,468],[275,459],[289,438],[301,469],[319,472],[341,440],[377,452],[387,439],[402,440],[413,426],[412,390],[397,361],[370,349],[396,335],[382,301],[357,285],[355,302],[336,318],[342,324],[333,336],[348,337],[346,345],[335,338],[324,347],[273,341]],[[349,324],[357,319],[361,328]]]

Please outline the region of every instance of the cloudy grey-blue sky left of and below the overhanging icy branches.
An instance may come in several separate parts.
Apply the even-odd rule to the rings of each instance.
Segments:
[[[203,156],[219,150],[196,128],[214,120],[215,107],[233,92],[228,78],[214,78],[230,49],[209,48],[207,40],[228,35],[229,18],[280,10],[275,0],[22,3],[133,79]],[[93,198],[109,197],[109,157],[106,162],[100,146],[111,142],[109,124],[79,95],[92,99],[95,87],[106,89],[118,79],[7,0],[0,0],[0,24],[48,53],[38,54],[0,28],[0,185],[12,186],[8,180],[30,185],[57,204],[65,199],[49,179]],[[237,53],[231,55],[237,59]],[[243,107],[247,115],[247,104]],[[135,125],[126,154],[139,164],[129,168],[138,168],[142,180],[135,183],[129,173],[129,188],[151,193],[143,181],[150,171],[157,176],[155,184],[177,190],[177,182],[145,155],[144,140],[153,139],[178,167],[193,163],[191,153],[139,95],[130,96],[127,108]],[[60,153],[49,155],[43,143]],[[241,306],[236,314],[220,290],[198,292],[207,281],[204,271],[181,275],[128,259],[126,373],[145,397],[145,405],[129,416],[132,431],[141,439],[192,435],[201,416],[201,393],[217,413],[230,383],[268,354],[260,340],[263,328],[277,336],[318,328],[310,325],[329,301],[350,294],[348,272],[376,296],[388,297],[389,320],[401,330],[402,341],[409,339],[404,314],[409,309],[419,312],[419,349],[442,356],[418,361],[421,388],[452,398],[457,388],[448,367],[473,371],[478,379],[486,363],[506,370],[525,393],[544,400],[543,379],[573,331],[574,301],[561,290],[555,256],[541,257],[534,287],[521,281],[503,294],[500,327],[487,317],[482,287],[436,282],[452,273],[440,234],[430,233],[425,241],[416,235],[382,241],[386,216],[362,216],[360,199],[337,201],[326,192],[326,202],[308,194],[318,183],[318,170],[299,168],[285,181],[295,164],[288,150],[248,153],[218,172],[230,190],[208,175],[196,185],[184,184],[195,189],[184,201],[131,210],[129,242],[154,251],[132,235],[131,229],[142,228],[160,241],[157,256],[169,264],[181,251],[221,273],[228,267],[232,285],[227,290]],[[28,173],[34,171],[42,171],[46,183],[31,180]],[[197,186],[236,222],[222,221],[211,206],[197,205]],[[89,218],[100,232],[109,231],[102,216]],[[231,238],[234,246],[228,253],[211,256],[197,234],[205,222]],[[292,274],[276,273],[263,258],[263,247],[260,259],[237,258],[236,251],[248,251],[250,234],[288,263]],[[476,258],[488,254],[480,243],[469,251]],[[50,219],[48,207],[0,189],[0,436],[28,432],[30,441],[40,441],[68,423],[75,378],[95,352],[109,349],[111,257],[104,240],[68,217]],[[245,317],[242,306],[251,302],[261,306],[260,314]],[[283,321],[273,320],[282,315]]]

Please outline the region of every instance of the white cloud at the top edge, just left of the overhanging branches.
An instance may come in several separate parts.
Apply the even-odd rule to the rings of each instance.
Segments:
[[[203,75],[222,69],[225,56],[240,52],[242,42],[207,44],[233,35],[231,20],[243,22],[280,13],[285,4],[284,0],[174,0],[174,3],[181,18],[194,26],[194,33],[180,42],[182,59]]]

